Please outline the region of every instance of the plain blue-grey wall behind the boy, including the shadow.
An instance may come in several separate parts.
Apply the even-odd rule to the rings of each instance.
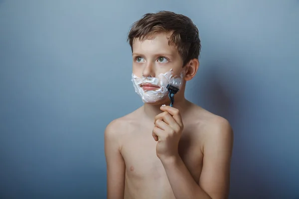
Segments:
[[[0,0],[0,198],[106,197],[104,129],[142,101],[126,36],[147,12],[202,40],[186,98],[235,132],[230,199],[299,197],[299,0]]]

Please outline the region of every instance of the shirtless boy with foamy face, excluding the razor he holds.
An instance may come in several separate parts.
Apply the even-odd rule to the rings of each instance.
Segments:
[[[160,11],[135,22],[128,40],[132,81],[145,104],[105,129],[108,199],[228,198],[230,124],[184,98],[199,67],[198,29],[184,15]],[[167,84],[179,89],[173,107]]]

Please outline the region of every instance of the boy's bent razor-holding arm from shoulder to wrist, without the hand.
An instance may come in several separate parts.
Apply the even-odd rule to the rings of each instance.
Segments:
[[[230,182],[230,159],[233,131],[225,119],[209,125],[204,140],[203,168],[199,185],[177,155],[161,160],[177,199],[227,199]]]

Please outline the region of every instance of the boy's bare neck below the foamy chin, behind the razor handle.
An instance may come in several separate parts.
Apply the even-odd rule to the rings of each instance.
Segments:
[[[182,98],[174,98],[174,104],[173,107],[177,108],[182,116],[182,114],[184,113],[184,111],[187,108],[188,105],[188,100],[186,100],[184,97]],[[167,101],[164,101],[164,103],[161,104],[149,104],[149,103],[145,103],[144,107],[143,107],[143,111],[146,114],[146,117],[150,120],[154,120],[154,117],[161,113],[162,111],[160,110],[160,106],[161,105],[169,105],[170,104],[170,100],[168,99]]]

